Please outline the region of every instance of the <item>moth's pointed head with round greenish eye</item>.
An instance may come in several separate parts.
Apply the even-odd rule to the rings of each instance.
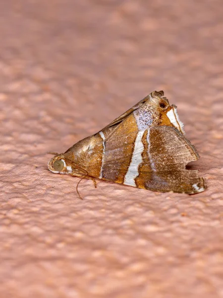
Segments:
[[[51,158],[51,160],[48,162],[48,168],[55,174],[70,174],[79,177],[88,175],[86,170],[67,160],[63,153]]]

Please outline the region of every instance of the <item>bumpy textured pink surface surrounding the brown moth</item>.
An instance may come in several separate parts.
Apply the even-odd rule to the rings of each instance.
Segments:
[[[221,0],[0,2],[0,297],[223,297],[222,16]],[[207,191],[83,180],[81,201],[47,169],[160,89]]]

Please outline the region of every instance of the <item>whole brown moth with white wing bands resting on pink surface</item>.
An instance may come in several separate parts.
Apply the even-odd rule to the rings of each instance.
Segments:
[[[153,91],[95,135],[53,157],[48,167],[58,174],[195,194],[205,190],[205,182],[186,165],[198,158],[176,106],[164,91]]]

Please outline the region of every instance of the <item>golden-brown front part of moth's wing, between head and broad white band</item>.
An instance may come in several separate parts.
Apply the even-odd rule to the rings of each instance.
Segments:
[[[116,127],[103,129],[79,141],[62,155],[52,158],[49,164],[52,165],[55,158],[63,158],[65,164],[71,166],[73,175],[76,175],[75,165],[78,165],[89,176],[123,183],[137,134],[136,120],[129,115]]]

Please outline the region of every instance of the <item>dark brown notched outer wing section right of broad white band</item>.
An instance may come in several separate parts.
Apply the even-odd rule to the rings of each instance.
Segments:
[[[148,130],[146,164],[139,166],[135,182],[138,187],[160,192],[194,194],[205,190],[204,179],[197,170],[186,169],[187,163],[199,155],[191,143],[172,127],[160,126]],[[146,154],[145,154],[146,155]]]

